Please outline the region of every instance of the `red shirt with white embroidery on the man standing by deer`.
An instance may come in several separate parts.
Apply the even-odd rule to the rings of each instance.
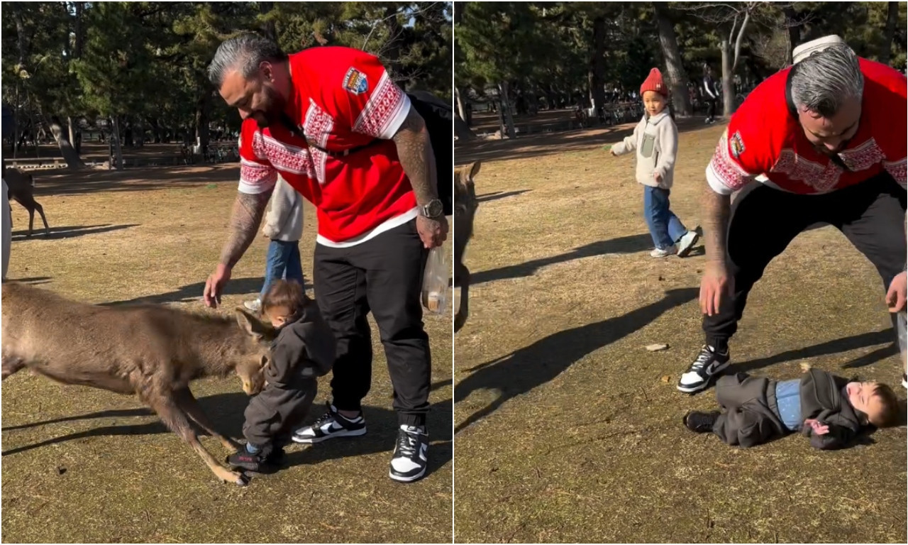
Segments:
[[[379,59],[347,47],[314,47],[291,54],[290,68],[287,114],[306,137],[279,123],[260,129],[245,120],[240,192],[268,191],[281,173],[315,204],[318,242],[334,247],[365,242],[415,218],[416,196],[390,140],[410,112],[410,99]],[[352,151],[334,155],[345,150]]]

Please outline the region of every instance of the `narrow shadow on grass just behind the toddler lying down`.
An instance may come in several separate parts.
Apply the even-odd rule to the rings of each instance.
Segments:
[[[889,356],[897,354],[899,351],[898,347],[895,346],[893,342],[894,338],[895,333],[891,329],[882,332],[861,333],[858,335],[852,335],[851,337],[835,339],[834,341],[820,342],[812,346],[805,346],[804,348],[780,352],[772,356],[760,358],[758,360],[735,363],[732,365],[731,369],[733,369],[734,372],[751,372],[757,369],[769,367],[770,365],[775,365],[776,363],[794,362],[795,360],[828,356],[837,354],[839,352],[848,352],[850,350],[856,350],[859,348],[867,348],[870,346],[875,346],[877,344],[883,344],[887,342],[891,343],[888,346],[884,346],[873,352],[864,354],[863,356],[860,356],[852,360],[851,362],[847,362],[842,365],[842,369],[854,369],[856,367],[864,367],[865,365],[880,362],[883,359],[888,358]]]

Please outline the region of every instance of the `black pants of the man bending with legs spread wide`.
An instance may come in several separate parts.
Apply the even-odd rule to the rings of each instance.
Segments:
[[[889,174],[822,195],[766,185],[745,191],[732,205],[728,225],[726,263],[735,293],[722,298],[717,314],[703,317],[706,342],[712,346],[724,345],[735,334],[747,293],[766,265],[813,223],[830,223],[844,233],[880,272],[883,292],[905,270],[905,190]],[[896,318],[893,313],[893,323]]]

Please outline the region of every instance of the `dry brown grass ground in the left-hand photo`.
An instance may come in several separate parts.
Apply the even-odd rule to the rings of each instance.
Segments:
[[[203,312],[202,286],[220,253],[237,175],[231,166],[39,175],[52,237],[25,240],[27,214],[14,204],[9,277],[89,302],[173,302]],[[301,253],[311,282],[315,214],[311,207],[306,214]],[[259,238],[233,272],[227,311],[261,288],[266,248]],[[4,540],[450,542],[451,323],[426,322],[435,384],[431,473],[406,486],[387,476],[396,420],[374,323],[369,434],[291,447],[291,467],[246,488],[214,481],[133,398],[26,372],[11,377],[3,384]],[[310,419],[329,397],[327,379]],[[240,434],[247,401],[240,381],[200,381],[193,391],[222,430]],[[92,417],[72,418],[82,415]],[[44,423],[58,419],[69,420]]]

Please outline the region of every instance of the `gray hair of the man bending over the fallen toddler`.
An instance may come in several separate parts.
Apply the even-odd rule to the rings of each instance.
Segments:
[[[847,45],[830,45],[792,70],[792,100],[798,108],[832,117],[846,101],[864,95],[861,66]]]

